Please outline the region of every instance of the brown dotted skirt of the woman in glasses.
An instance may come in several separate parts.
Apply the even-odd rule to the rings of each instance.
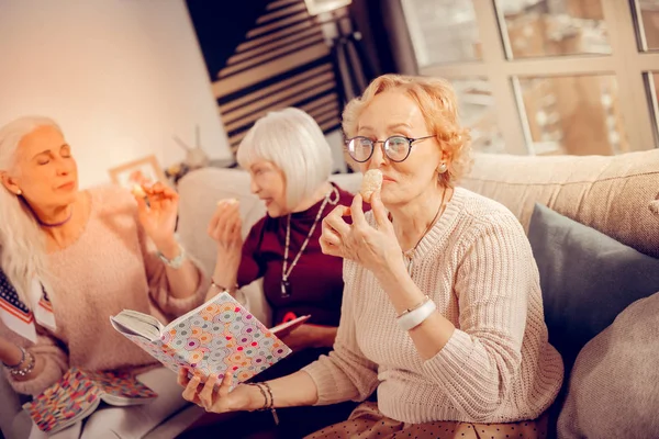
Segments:
[[[362,403],[348,420],[325,427],[305,439],[513,439],[546,438],[547,416],[511,424],[434,421],[405,424],[382,415],[377,403]]]

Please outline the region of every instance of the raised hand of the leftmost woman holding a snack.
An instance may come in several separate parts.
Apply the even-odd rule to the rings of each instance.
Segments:
[[[146,198],[135,196],[139,224],[160,251],[165,252],[165,249],[171,246],[178,249],[174,237],[178,214],[178,193],[160,182],[143,189]],[[146,204],[147,200],[148,205]],[[171,257],[176,257],[176,255]]]

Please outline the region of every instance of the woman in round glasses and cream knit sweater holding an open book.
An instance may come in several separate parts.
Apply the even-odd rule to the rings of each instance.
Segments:
[[[379,169],[383,183],[370,213],[357,195],[323,221],[323,251],[345,258],[334,351],[231,392],[231,375],[215,391],[213,378],[181,374],[183,397],[230,412],[364,401],[377,389],[377,403],[310,437],[544,437],[562,361],[522,226],[456,187],[469,135],[450,86],[380,77],[347,105],[344,132],[360,170]]]

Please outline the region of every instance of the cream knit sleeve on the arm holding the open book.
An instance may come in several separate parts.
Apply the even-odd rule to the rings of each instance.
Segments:
[[[311,375],[316,385],[316,405],[336,404],[348,399],[364,401],[378,386],[377,364],[364,356],[357,342],[354,282],[349,274],[345,275],[346,266],[349,263],[344,262],[346,285],[334,350],[302,369]]]

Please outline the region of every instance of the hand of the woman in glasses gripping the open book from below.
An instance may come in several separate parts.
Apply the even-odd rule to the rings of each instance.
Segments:
[[[187,369],[179,370],[178,383],[186,387],[182,394],[183,399],[212,413],[244,412],[255,408],[253,407],[255,405],[253,391],[256,389],[249,385],[238,385],[232,391],[233,375],[230,371],[226,372],[220,385],[216,385],[220,381],[217,375],[209,376],[203,384],[201,381],[197,374],[190,379]]]

